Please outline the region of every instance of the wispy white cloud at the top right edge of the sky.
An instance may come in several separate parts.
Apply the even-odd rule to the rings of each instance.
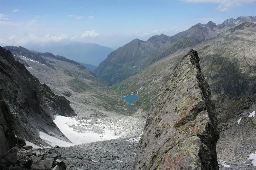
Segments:
[[[229,11],[234,7],[238,7],[245,3],[254,3],[255,0],[180,0],[187,3],[216,3],[218,10],[224,12]]]

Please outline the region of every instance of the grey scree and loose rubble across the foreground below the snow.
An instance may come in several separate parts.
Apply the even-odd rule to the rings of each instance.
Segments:
[[[7,163],[1,170],[128,170],[133,169],[138,141],[135,139],[114,139],[75,145],[71,147],[51,148],[12,148],[2,158]],[[9,156],[8,156],[9,155]],[[17,156],[15,156],[17,155]],[[237,162],[219,161],[221,170],[255,170],[252,160]],[[57,166],[56,166],[57,165]]]

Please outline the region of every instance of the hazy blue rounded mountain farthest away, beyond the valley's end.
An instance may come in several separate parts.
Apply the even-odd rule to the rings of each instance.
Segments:
[[[98,66],[113,51],[112,48],[84,42],[51,42],[45,45],[27,44],[27,49],[38,52],[50,52],[68,59]]]

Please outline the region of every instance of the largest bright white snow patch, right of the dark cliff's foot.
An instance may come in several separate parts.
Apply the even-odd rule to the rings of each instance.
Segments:
[[[105,124],[94,124],[94,126],[102,128],[103,131],[103,133],[95,133],[92,132],[93,129],[90,131],[92,127],[88,126],[88,124],[79,122],[73,117],[65,117],[60,115],[55,115],[54,117],[55,119],[53,120],[53,122],[57,125],[61,132],[72,143],[76,145],[82,143],[117,139],[119,137],[115,136],[115,132],[109,129]],[[77,129],[78,127],[80,127],[79,130]]]

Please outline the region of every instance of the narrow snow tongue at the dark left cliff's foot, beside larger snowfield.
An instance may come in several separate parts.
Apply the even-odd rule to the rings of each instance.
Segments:
[[[66,141],[63,141],[61,139],[58,139],[56,137],[53,137],[53,136],[50,136],[42,131],[39,132],[39,136],[42,140],[46,141],[46,143],[48,143],[49,145],[51,146],[74,146],[75,144],[73,143],[69,143],[69,142],[66,142]]]

